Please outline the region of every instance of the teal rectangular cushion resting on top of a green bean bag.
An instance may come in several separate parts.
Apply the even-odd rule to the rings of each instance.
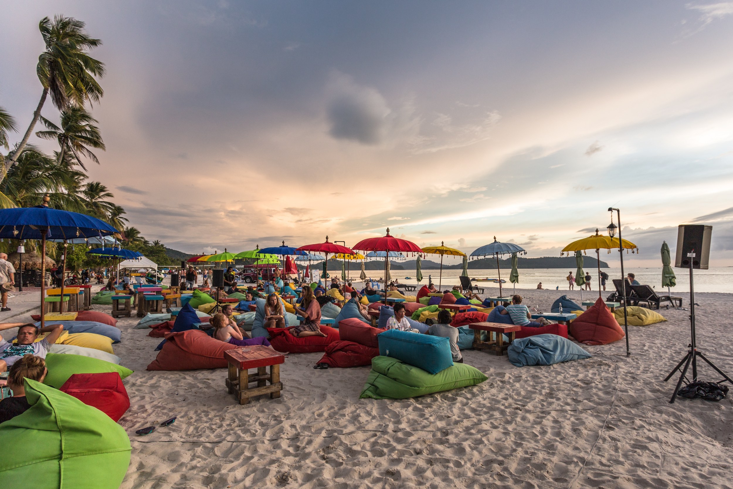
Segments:
[[[436,374],[453,364],[448,338],[388,329],[380,333],[379,354]]]

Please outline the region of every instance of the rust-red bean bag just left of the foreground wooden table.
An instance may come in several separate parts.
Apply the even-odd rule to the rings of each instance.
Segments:
[[[227,366],[224,352],[237,348],[213,339],[200,329],[169,333],[166,339],[158,357],[147,366],[148,370],[221,369]]]

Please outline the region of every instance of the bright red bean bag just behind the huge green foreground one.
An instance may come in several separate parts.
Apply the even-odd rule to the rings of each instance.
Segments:
[[[97,408],[114,422],[130,408],[130,397],[117,372],[74,374],[60,389],[84,404]]]

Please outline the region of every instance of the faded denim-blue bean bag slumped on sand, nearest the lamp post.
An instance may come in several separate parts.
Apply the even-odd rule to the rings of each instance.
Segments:
[[[515,339],[507,349],[509,361],[515,367],[528,365],[553,365],[561,361],[589,359],[590,353],[575,345],[570,339],[556,334]]]

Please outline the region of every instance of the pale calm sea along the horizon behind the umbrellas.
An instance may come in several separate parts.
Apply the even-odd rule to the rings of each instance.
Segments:
[[[690,290],[690,271],[686,268],[672,268],[674,274],[677,276],[677,286],[672,287],[672,292],[689,292]],[[510,268],[501,270],[501,279],[506,282],[501,284],[502,287],[508,287],[510,290],[515,286],[509,282]],[[520,268],[519,269],[519,283],[516,284],[517,289],[537,289],[537,284],[542,282],[542,288],[555,289],[559,287],[559,290],[567,290],[568,284],[565,277],[570,270],[566,268]],[[598,272],[597,268],[589,268],[586,271],[591,273],[593,277],[591,282],[592,290],[598,290]],[[614,284],[611,279],[621,278],[621,268],[602,268],[601,271],[608,273],[609,279],[606,284],[607,291],[614,290]],[[655,290],[660,293],[667,290],[667,287],[662,287],[662,268],[661,267],[649,267],[649,268],[627,268],[624,267],[625,273],[633,273],[636,276],[636,280],[639,283],[645,285],[651,285]],[[341,276],[340,270],[329,270],[331,276]],[[360,271],[350,271],[350,278],[358,281]],[[383,271],[368,270],[367,276],[372,279],[384,278]],[[462,270],[458,269],[443,269],[442,288],[452,287],[453,285],[460,284],[458,277],[462,273]],[[575,276],[575,269],[572,270],[573,276]],[[402,284],[417,284],[415,279],[416,271],[414,270],[393,270],[391,271],[392,279],[398,279],[399,283]],[[432,282],[437,285],[441,282],[439,270],[423,270],[423,280],[421,284],[427,284],[428,276],[432,277]],[[468,271],[468,276],[476,279],[496,279],[497,272],[496,268],[493,270],[482,270],[474,269]],[[409,278],[408,278],[409,277]],[[498,284],[494,282],[474,282],[479,287],[498,287]],[[733,267],[711,267],[708,270],[695,270],[694,271],[694,284],[695,292],[720,292],[720,293],[733,293]],[[575,290],[578,290],[578,285],[575,286]],[[610,292],[609,292],[610,293]]]

